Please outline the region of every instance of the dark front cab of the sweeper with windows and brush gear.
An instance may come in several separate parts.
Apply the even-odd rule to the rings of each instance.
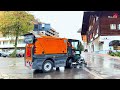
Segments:
[[[66,68],[72,68],[76,65],[87,65],[84,58],[81,57],[80,41],[76,39],[68,39],[68,58]]]

